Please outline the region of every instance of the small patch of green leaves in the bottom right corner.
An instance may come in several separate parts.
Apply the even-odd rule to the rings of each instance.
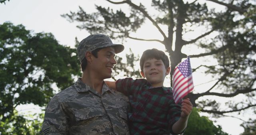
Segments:
[[[250,119],[248,122],[244,122],[241,124],[244,128],[244,133],[240,135],[256,135],[256,119]]]

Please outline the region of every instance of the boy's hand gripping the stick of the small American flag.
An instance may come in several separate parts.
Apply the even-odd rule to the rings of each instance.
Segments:
[[[193,105],[192,103],[189,101],[189,98],[183,99],[182,103],[181,103],[181,115],[180,117],[182,118],[188,118],[188,116],[190,115]]]

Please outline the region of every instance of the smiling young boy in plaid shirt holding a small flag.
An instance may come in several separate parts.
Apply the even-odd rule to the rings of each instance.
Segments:
[[[170,73],[170,61],[164,52],[151,49],[143,52],[140,73],[146,79],[118,79],[105,81],[109,87],[129,96],[128,113],[131,135],[181,134],[192,111],[189,99],[176,105],[172,88],[164,87],[164,78]]]

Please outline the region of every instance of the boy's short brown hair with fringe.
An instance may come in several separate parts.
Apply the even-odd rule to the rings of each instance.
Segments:
[[[153,48],[143,52],[140,58],[140,70],[143,71],[144,63],[146,60],[153,58],[155,58],[156,60],[162,60],[165,68],[170,66],[170,60],[168,56],[163,51]]]

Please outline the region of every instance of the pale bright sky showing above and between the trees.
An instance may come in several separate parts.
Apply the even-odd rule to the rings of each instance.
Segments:
[[[146,4],[150,5],[150,0],[148,1],[149,2]],[[89,36],[89,33],[86,32],[86,30],[79,30],[76,28],[76,23],[70,23],[60,15],[69,13],[70,11],[78,11],[78,6],[84,8],[84,10],[88,13],[94,12],[96,11],[94,4],[104,6],[109,5],[112,8],[122,10],[127,9],[128,7],[127,5],[114,6],[113,4],[110,4],[104,0],[10,0],[9,2],[6,1],[6,4],[0,4],[0,24],[9,21],[14,25],[22,24],[26,27],[26,30],[32,30],[34,33],[50,32],[55,36],[59,44],[74,48],[75,38],[77,37],[78,41],[81,41],[82,39]],[[158,31],[155,28],[150,28],[151,25],[151,23],[145,24],[138,31],[138,33],[140,33],[143,37],[154,36],[154,38],[161,39],[160,36],[158,37],[158,35],[154,35],[154,33],[158,33]],[[138,44],[141,45],[140,48],[138,48]],[[150,48],[156,48],[159,50],[165,49],[163,45],[158,44],[157,42],[135,42],[134,40],[127,40],[127,42],[124,42],[124,45],[125,50],[120,54],[117,54],[117,56],[124,56],[127,52],[129,52],[129,48],[131,48],[132,52],[135,54],[140,54],[144,50]],[[193,65],[193,61],[191,61],[191,64],[192,68],[196,67],[196,65]],[[214,83],[211,82],[200,85],[201,83],[210,80],[210,76],[207,75],[194,75],[193,73],[193,78],[195,88],[197,89],[200,89],[201,87],[210,87],[212,86],[212,83]],[[200,81],[202,78],[205,80],[204,82]],[[168,87],[170,82],[167,81],[165,84]],[[23,113],[27,113],[27,111],[38,110],[40,107],[33,105],[23,105],[19,106],[17,109]],[[233,114],[230,113],[229,115]],[[244,116],[241,119],[243,118],[246,119],[248,117]],[[231,135],[239,135],[244,130],[242,127],[240,127],[242,121],[233,117],[222,117],[211,120],[214,121],[215,125],[221,125],[222,129]]]

